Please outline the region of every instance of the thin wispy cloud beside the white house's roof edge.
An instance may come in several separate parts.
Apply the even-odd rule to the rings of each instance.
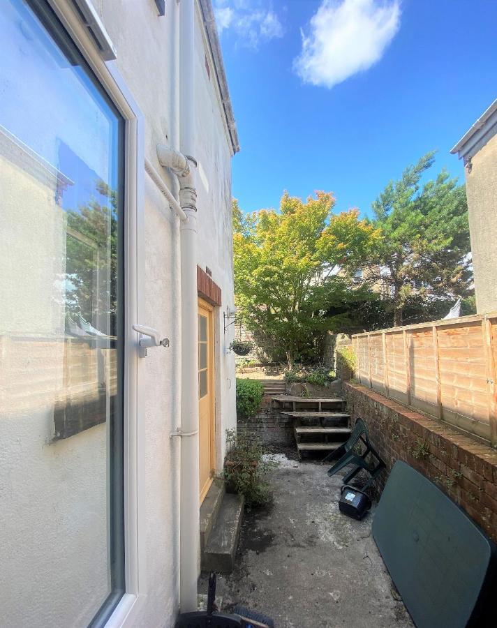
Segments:
[[[261,0],[216,0],[214,13],[219,33],[231,30],[240,44],[257,49],[260,43],[283,37],[279,16]]]

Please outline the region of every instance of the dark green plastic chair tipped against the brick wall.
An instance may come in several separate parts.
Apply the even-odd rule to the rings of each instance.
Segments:
[[[364,447],[366,447],[362,454],[357,454],[355,451],[355,447],[358,443],[362,443]],[[374,459],[373,464],[366,462],[366,456],[368,456],[368,454]],[[334,449],[334,451],[325,456],[322,461],[336,461],[336,463],[328,469],[329,477],[332,477],[332,475],[339,472],[347,465],[354,465],[353,470],[343,478],[343,484],[348,484],[360,470],[364,469],[371,475],[371,478],[363,488],[367,488],[378,473],[385,468],[385,463],[369,441],[368,428],[366,428],[366,424],[364,424],[362,419],[355,421],[355,427],[348,441],[341,444],[338,449]]]

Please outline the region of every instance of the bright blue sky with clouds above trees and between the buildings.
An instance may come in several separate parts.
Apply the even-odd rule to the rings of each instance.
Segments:
[[[497,1],[215,0],[242,150],[244,211],[331,190],[371,202],[406,165],[450,149],[497,97]]]

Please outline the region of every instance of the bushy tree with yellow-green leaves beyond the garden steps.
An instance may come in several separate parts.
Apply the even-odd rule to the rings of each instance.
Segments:
[[[334,202],[331,193],[306,202],[284,193],[279,211],[244,216],[233,201],[237,306],[274,359],[284,356],[290,367],[317,357],[322,334],[337,329],[330,305],[377,246],[378,230],[355,209],[332,214]]]

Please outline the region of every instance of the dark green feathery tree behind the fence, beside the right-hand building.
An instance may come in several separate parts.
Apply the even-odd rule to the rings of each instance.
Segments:
[[[471,292],[470,238],[466,189],[443,170],[422,185],[422,176],[434,161],[424,155],[390,181],[373,202],[373,224],[383,237],[371,257],[367,278],[382,285],[391,302],[394,325],[403,314],[443,299],[466,297]]]

